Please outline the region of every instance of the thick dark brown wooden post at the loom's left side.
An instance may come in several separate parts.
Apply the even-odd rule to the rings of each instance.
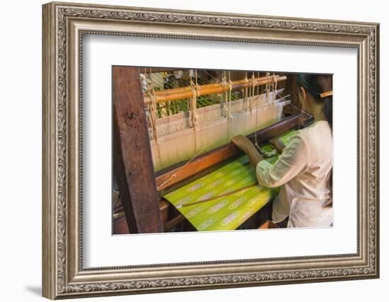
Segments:
[[[131,233],[163,232],[139,69],[112,67],[113,165]]]

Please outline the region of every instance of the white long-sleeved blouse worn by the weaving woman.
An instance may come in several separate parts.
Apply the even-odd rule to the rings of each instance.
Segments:
[[[330,226],[332,207],[327,180],[332,168],[332,130],[327,121],[317,121],[296,131],[274,164],[260,161],[257,179],[263,187],[279,187],[272,220],[289,216],[288,228]]]

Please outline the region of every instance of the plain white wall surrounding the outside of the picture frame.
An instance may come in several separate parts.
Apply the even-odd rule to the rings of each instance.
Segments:
[[[86,2],[88,1],[81,1]],[[385,95],[389,72],[389,21],[385,1],[94,1],[99,4],[224,11],[273,16],[327,18],[381,23],[381,117],[388,115]],[[0,46],[0,284],[3,301],[37,301],[41,284],[41,4],[40,0],[1,5]],[[22,88],[21,88],[22,87]],[[91,298],[88,301],[375,301],[388,293],[389,223],[388,119],[381,118],[381,279],[170,294]],[[387,148],[385,148],[385,146]],[[387,152],[386,152],[387,153]],[[385,288],[386,287],[386,288]],[[382,299],[380,299],[382,300]]]

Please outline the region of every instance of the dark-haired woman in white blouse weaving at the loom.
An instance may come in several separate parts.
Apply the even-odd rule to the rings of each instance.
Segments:
[[[280,153],[265,161],[247,137],[232,141],[245,152],[263,187],[280,187],[272,205],[274,223],[289,216],[287,227],[332,225],[332,76],[298,75],[298,98],[315,122],[296,131],[289,144],[270,141]]]

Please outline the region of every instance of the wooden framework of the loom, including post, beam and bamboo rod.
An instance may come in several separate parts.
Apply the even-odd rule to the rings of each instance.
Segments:
[[[168,91],[154,91],[152,95],[144,94],[139,81],[139,69],[114,67],[112,72],[114,170],[125,213],[124,221],[127,221],[127,224],[123,224],[122,221],[124,231],[119,230],[114,233],[128,233],[127,225],[131,233],[168,231],[178,223],[183,223],[185,218],[172,209],[171,205],[169,207],[169,204],[161,199],[161,194],[209,173],[238,156],[240,151],[228,142],[190,158],[189,162],[186,160],[175,163],[155,173],[150,144],[153,133],[150,131],[150,122],[144,114],[145,105],[192,98],[194,89],[182,87]],[[285,79],[286,76],[265,76],[228,83],[211,83],[197,86],[196,93],[197,96],[223,93]],[[307,116],[302,113],[289,115],[257,131],[257,141],[263,143],[289,129],[301,127],[306,120]],[[255,141],[255,133],[248,134],[248,137]]]

